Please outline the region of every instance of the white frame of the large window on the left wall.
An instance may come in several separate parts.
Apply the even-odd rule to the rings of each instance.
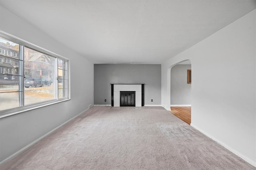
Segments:
[[[45,106],[48,106],[48,105],[52,105],[52,104],[56,104],[56,103],[59,103],[59,102],[65,102],[67,100],[70,100],[70,77],[69,77],[69,71],[70,71],[70,66],[69,66],[69,60],[65,57],[62,57],[56,53],[52,53],[51,51],[48,51],[46,49],[43,49],[41,47],[38,47],[32,43],[28,43],[26,41],[23,41],[22,39],[19,39],[18,37],[14,37],[12,35],[9,35],[7,33],[4,33],[2,31],[0,31],[1,33],[1,37],[3,37],[4,39],[7,39],[9,41],[12,41],[14,43],[17,43],[20,45],[20,47],[22,47],[22,53],[20,53],[20,55],[22,55],[22,60],[20,60],[20,62],[22,63],[20,65],[20,67],[22,67],[22,82],[20,82],[20,87],[22,88],[22,96],[20,96],[19,98],[21,98],[20,100],[20,107],[16,107],[16,108],[12,108],[12,109],[6,109],[6,110],[2,110],[0,111],[0,118],[1,117],[6,117],[6,116],[10,116],[10,115],[14,115],[14,114],[18,114],[18,113],[22,113],[22,112],[25,112],[25,111],[28,111],[28,110],[32,110],[32,109],[37,109],[37,108],[40,108],[40,107],[45,107]],[[54,100],[48,100],[48,101],[45,101],[45,102],[39,102],[39,103],[36,103],[36,104],[30,104],[28,106],[24,106],[24,47],[27,47],[27,48],[30,48],[30,49],[34,49],[40,53],[44,53],[46,55],[49,55],[51,57],[54,57],[56,59],[56,66],[55,66],[55,78],[52,77],[53,81],[55,81],[55,99]],[[0,56],[1,58],[3,57],[4,58],[4,55],[1,55]],[[2,59],[3,59],[2,58]],[[19,57],[18,57],[19,58]],[[10,58],[12,59],[12,58]],[[58,59],[61,59],[63,61],[66,61],[67,62],[67,70],[68,70],[68,75],[67,75],[67,97],[65,98],[58,98]],[[1,70],[2,72],[2,70]]]

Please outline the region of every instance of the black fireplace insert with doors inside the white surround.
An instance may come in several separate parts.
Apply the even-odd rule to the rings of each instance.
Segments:
[[[135,91],[120,91],[120,107],[135,107]]]

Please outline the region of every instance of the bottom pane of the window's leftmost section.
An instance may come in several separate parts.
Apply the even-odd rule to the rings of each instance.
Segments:
[[[0,93],[0,110],[12,109],[19,106],[19,92]]]

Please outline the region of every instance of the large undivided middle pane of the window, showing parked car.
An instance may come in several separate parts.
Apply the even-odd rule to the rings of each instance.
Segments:
[[[56,99],[56,58],[27,47],[24,48],[25,105]]]

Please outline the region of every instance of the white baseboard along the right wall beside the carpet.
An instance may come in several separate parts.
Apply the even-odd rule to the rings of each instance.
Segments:
[[[231,152],[233,152],[234,154],[236,154],[237,156],[239,156],[240,158],[242,158],[243,160],[245,160],[246,162],[248,162],[249,164],[251,164],[252,166],[256,167],[256,161],[251,160],[250,158],[248,158],[247,156],[244,156],[243,154],[241,154],[240,152],[238,152],[237,150],[229,147],[228,145],[226,145],[225,143],[222,143],[222,141],[212,137],[211,135],[209,135],[208,133],[206,133],[205,131],[203,131],[202,129],[196,127],[193,123],[190,124],[190,126],[194,127],[196,130],[202,132],[204,135],[210,137],[212,140],[216,141],[217,143],[219,143],[220,145],[222,145],[224,148],[230,150]]]

